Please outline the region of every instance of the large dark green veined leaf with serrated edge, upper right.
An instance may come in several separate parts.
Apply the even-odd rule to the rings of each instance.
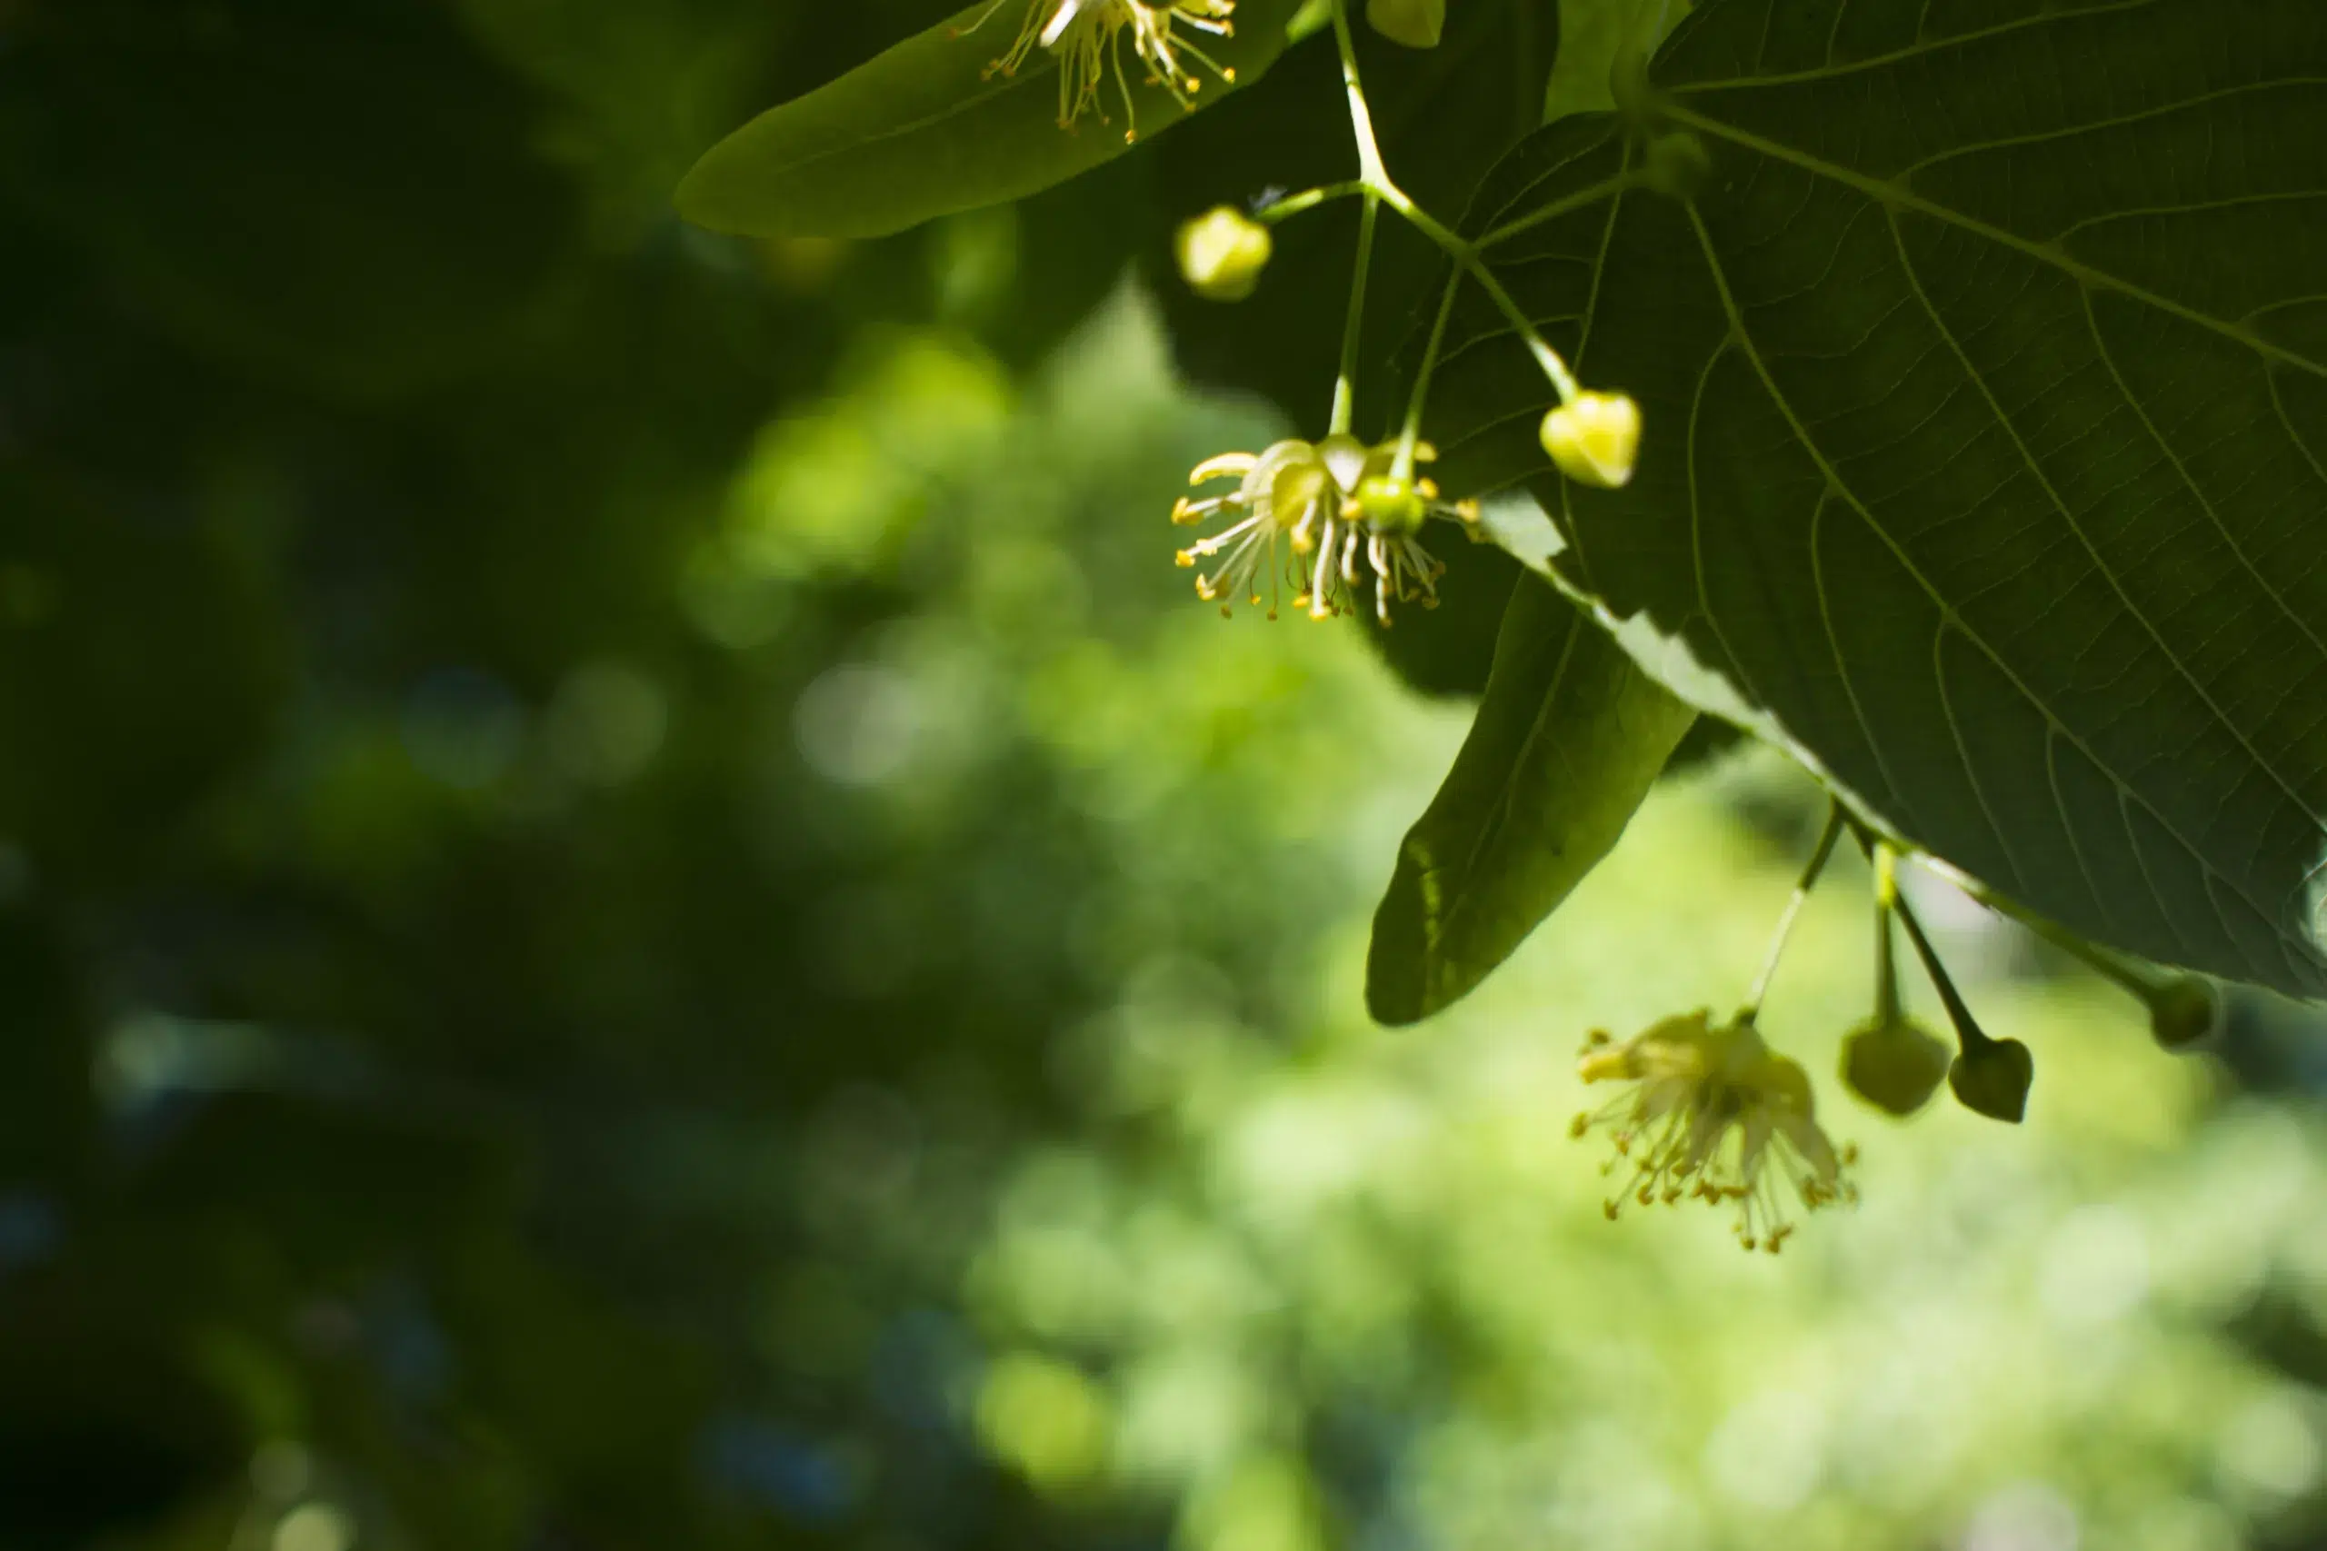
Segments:
[[[1654,81],[1694,200],[1492,253],[1648,419],[1561,581],[2036,912],[2327,991],[2327,7],[1713,0]],[[1557,123],[1471,230],[1638,153]],[[1447,481],[1543,479],[1540,374],[1450,339]]]

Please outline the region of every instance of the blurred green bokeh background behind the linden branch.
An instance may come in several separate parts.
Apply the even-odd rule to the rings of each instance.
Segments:
[[[2169,1058],[1924,891],[2038,1084],[1897,1125],[1845,865],[1766,1025],[1864,1205],[1610,1228],[1575,1044],[1736,1000],[1820,816],[1734,751],[1368,1025],[1510,579],[1403,679],[1187,595],[1285,426],[1143,279],[1196,128],[668,214],[935,9],[0,0],[0,1546],[2327,1544],[2294,1009]]]

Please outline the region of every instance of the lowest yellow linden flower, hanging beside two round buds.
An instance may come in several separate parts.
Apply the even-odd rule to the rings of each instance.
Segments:
[[[1587,1084],[1634,1084],[1571,1125],[1575,1137],[1613,1137],[1608,1172],[1631,1165],[1631,1179],[1608,1200],[1610,1221],[1627,1198],[1643,1207],[1736,1202],[1738,1242],[1778,1253],[1794,1232],[1785,1195],[1803,1212],[1857,1200],[1845,1174],[1857,1149],[1834,1149],[1817,1128],[1810,1079],[1762,1044],[1750,1023],[1715,1028],[1706,1012],[1692,1012],[1624,1044],[1594,1032],[1578,1072]]]

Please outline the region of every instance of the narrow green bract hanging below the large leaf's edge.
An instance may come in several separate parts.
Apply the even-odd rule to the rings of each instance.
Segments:
[[[1566,598],[1522,581],[1445,786],[1373,916],[1366,1005],[1450,1007],[1608,856],[1696,712]]]

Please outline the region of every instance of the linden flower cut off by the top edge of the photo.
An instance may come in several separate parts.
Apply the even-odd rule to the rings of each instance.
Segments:
[[[959,35],[987,26],[1010,0],[994,0],[977,21]],[[1036,49],[1059,58],[1059,128],[1073,128],[1084,114],[1108,114],[1098,107],[1098,91],[1105,77],[1115,77],[1115,91],[1124,100],[1124,140],[1138,140],[1138,109],[1131,102],[1131,81],[1124,77],[1124,33],[1131,33],[1131,51],[1147,70],[1147,81],[1161,86],[1180,107],[1194,107],[1189,98],[1203,91],[1203,77],[1187,67],[1182,56],[1196,60],[1224,84],[1236,84],[1236,70],[1222,65],[1198,44],[1175,28],[1187,23],[1196,33],[1229,37],[1236,28],[1229,14],[1236,0],[1033,0],[1026,21],[1019,26],[1010,51],[987,65],[987,74],[1017,74]]]

